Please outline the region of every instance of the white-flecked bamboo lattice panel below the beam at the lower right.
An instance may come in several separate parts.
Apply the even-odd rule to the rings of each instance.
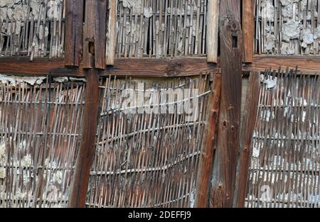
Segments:
[[[320,207],[320,78],[262,78],[247,207]]]

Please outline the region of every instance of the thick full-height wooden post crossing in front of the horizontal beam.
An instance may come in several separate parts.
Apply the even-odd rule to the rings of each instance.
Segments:
[[[220,1],[220,66],[222,89],[210,206],[231,207],[242,90],[242,31],[240,0]]]

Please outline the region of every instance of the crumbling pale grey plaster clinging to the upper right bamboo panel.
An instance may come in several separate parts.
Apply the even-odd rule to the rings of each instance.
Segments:
[[[274,33],[274,24],[265,23],[265,42],[263,43],[263,52],[277,53],[281,55],[296,55],[305,53],[306,55],[314,54],[314,49],[320,41],[320,28],[315,28],[311,31],[310,20],[312,18],[311,9],[306,8],[307,0],[280,0],[281,7],[281,23],[278,23],[279,30]],[[267,21],[274,21],[274,1],[261,0],[261,10],[258,15],[265,18]],[[305,12],[305,13],[304,13]],[[307,24],[304,24],[306,16]],[[317,11],[314,11],[314,18],[318,18]],[[277,36],[278,39],[275,39]],[[277,40],[279,49],[276,48]],[[280,50],[277,52],[277,50]]]

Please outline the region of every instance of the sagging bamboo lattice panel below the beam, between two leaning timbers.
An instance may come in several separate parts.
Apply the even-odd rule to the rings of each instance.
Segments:
[[[144,81],[144,87],[139,87],[142,80],[137,79],[106,79],[101,84],[102,111],[87,207],[193,206],[210,93],[208,77]],[[140,94],[137,98],[145,96],[145,102],[121,109],[124,89]],[[166,89],[198,89],[198,93],[165,102],[156,93]],[[137,113],[142,107],[151,108],[150,93],[154,109],[161,104],[161,109],[170,106],[173,112]],[[198,115],[191,121],[186,112],[178,111],[178,104],[196,98],[193,107],[198,107]]]

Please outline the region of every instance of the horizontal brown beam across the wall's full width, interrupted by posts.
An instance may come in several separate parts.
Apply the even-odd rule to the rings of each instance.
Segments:
[[[295,69],[307,74],[320,74],[320,56],[255,56],[252,63],[243,65],[243,71],[278,70],[279,67]],[[178,77],[196,76],[200,72],[213,72],[218,65],[207,63],[206,57],[176,59],[127,59],[117,58],[114,66],[107,66],[100,73],[104,76],[117,75],[134,77]],[[80,67],[65,67],[63,58],[49,60],[45,57],[0,57],[0,73],[26,76],[85,77]]]

